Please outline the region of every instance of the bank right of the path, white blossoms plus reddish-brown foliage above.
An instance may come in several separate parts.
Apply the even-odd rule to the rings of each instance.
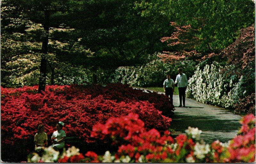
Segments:
[[[255,114],[254,26],[242,29],[234,43],[208,58],[189,79],[187,96],[238,113]]]

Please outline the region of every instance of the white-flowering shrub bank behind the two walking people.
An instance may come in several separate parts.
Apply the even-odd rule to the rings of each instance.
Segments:
[[[154,55],[158,57],[142,66],[122,66],[112,72],[101,71],[100,82],[121,82],[132,86],[163,86],[166,74],[171,74],[171,78],[175,80],[179,67],[183,68],[183,72],[188,77],[194,74],[196,62],[192,60],[164,62],[163,54]]]

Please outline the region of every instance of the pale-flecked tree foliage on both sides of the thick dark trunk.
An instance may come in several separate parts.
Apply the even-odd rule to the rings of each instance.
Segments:
[[[23,1],[17,2],[17,4],[11,0],[2,1],[1,84],[5,87],[38,84],[40,60],[43,55],[42,37],[45,35],[43,26],[40,24],[43,17],[42,10],[44,8],[63,9],[60,2],[55,9],[50,9],[43,3],[37,4],[35,1],[27,3],[25,5]],[[51,3],[57,2],[51,1]],[[39,8],[40,5],[43,7]],[[21,10],[21,8],[26,10]],[[51,19],[54,20],[61,14],[61,12],[52,12]],[[70,37],[74,33],[74,29],[66,29],[60,25],[61,20],[58,22],[59,24],[52,21],[52,28],[49,30],[48,53],[44,55],[48,64],[46,84],[54,82],[57,84],[80,84],[91,81],[92,75],[88,73],[88,70],[75,68],[56,58],[63,54],[66,55],[66,58],[91,55],[91,51],[86,50],[77,38]],[[72,58],[72,60],[79,59]],[[72,71],[74,72],[72,73]]]

